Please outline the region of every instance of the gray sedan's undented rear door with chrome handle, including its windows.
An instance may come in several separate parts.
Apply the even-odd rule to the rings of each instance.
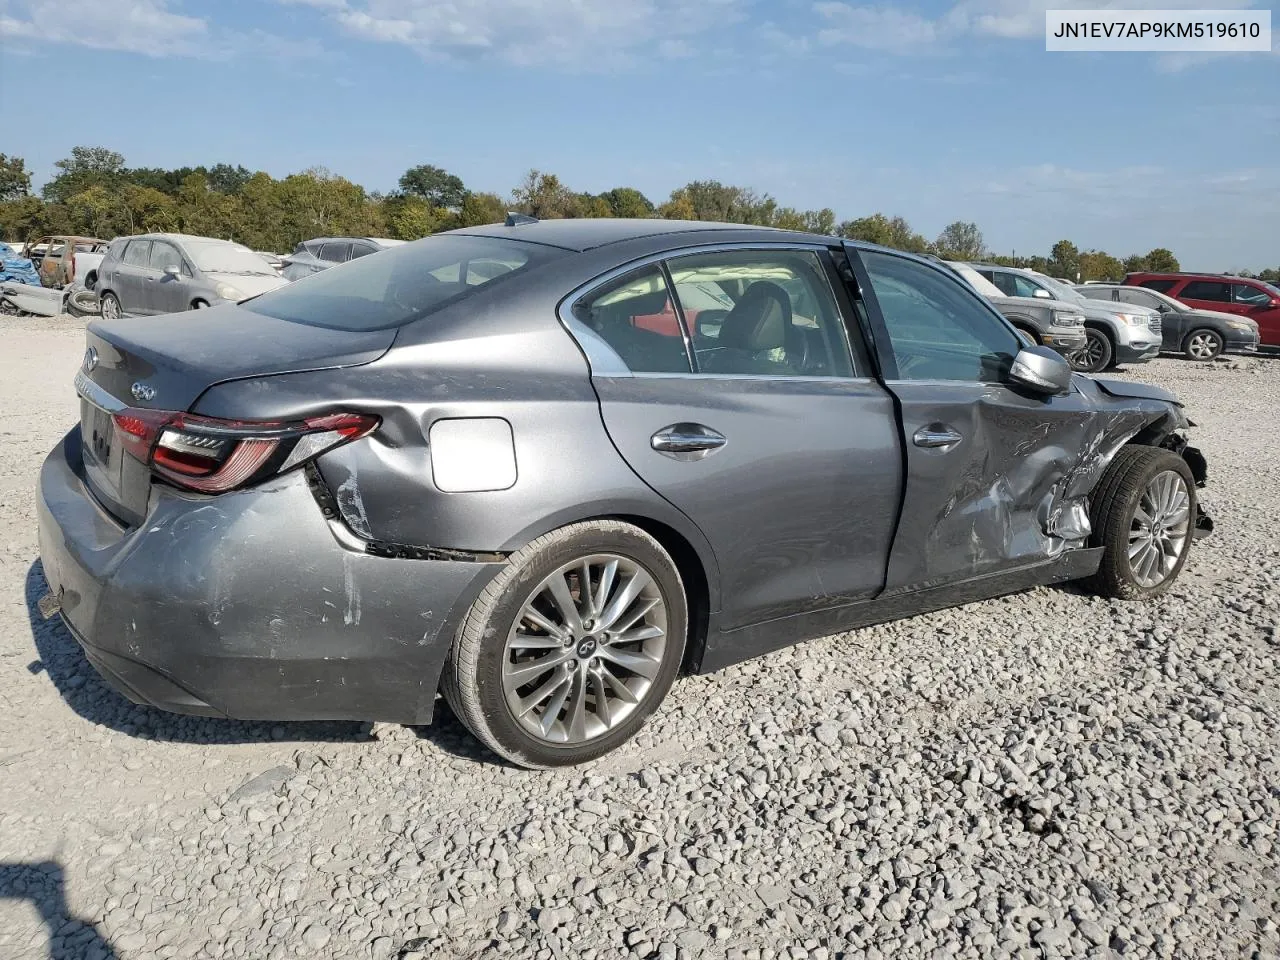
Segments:
[[[884,581],[902,479],[893,403],[851,353],[832,269],[820,246],[671,256],[566,311],[614,445],[716,552],[723,630]],[[703,305],[708,284],[728,308],[691,330],[682,301]],[[668,315],[675,326],[652,323]]]

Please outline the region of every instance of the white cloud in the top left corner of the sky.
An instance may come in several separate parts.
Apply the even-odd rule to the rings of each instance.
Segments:
[[[15,0],[0,4],[0,37],[76,44],[148,56],[189,54],[209,23],[169,10],[168,0]]]

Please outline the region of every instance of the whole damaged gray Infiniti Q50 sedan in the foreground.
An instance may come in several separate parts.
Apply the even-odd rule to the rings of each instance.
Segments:
[[[1041,584],[1147,600],[1211,529],[1170,393],[803,233],[512,218],[87,347],[41,605],[183,713],[443,694],[580,763],[682,671]]]

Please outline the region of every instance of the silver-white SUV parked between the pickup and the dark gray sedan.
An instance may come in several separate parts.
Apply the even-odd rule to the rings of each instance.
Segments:
[[[1144,364],[1160,353],[1164,332],[1155,310],[1089,300],[1034,270],[989,264],[970,266],[1009,296],[1061,300],[1084,314],[1087,343],[1071,358],[1073,366],[1082,372],[1100,372],[1117,364]]]

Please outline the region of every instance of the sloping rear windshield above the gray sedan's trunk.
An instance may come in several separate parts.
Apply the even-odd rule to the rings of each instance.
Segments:
[[[381,330],[562,255],[535,243],[442,234],[351,260],[241,306],[333,330]]]

